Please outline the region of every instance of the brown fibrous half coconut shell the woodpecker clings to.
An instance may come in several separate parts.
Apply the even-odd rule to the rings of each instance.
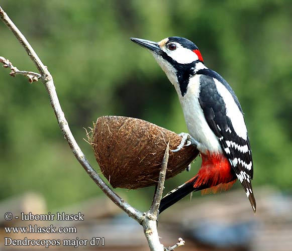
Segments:
[[[116,188],[137,189],[156,185],[162,159],[181,141],[177,134],[142,119],[102,116],[96,121],[89,139],[103,175]],[[169,151],[166,179],[183,171],[199,154],[188,146]]]

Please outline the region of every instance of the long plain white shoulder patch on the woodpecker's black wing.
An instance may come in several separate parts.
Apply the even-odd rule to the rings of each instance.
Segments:
[[[247,130],[246,130],[244,118],[241,111],[239,110],[231,93],[226,89],[226,87],[216,78],[213,78],[213,79],[214,79],[214,82],[216,83],[216,88],[219,94],[222,96],[225,102],[226,115],[230,118],[235,133],[242,139],[246,140]]]

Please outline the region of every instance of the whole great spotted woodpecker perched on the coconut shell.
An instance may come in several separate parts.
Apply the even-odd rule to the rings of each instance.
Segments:
[[[138,38],[131,40],[152,52],[174,85],[190,142],[197,146],[202,156],[198,174],[165,195],[159,212],[193,191],[228,190],[236,179],[255,212],[249,138],[241,106],[230,85],[204,65],[198,47],[185,38],[169,37],[158,43]]]

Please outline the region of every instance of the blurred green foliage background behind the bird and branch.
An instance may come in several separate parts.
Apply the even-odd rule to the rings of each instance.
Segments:
[[[130,37],[186,37],[208,67],[237,93],[254,157],[254,186],[291,192],[292,2],[239,1],[1,1],[52,73],[71,130],[97,168],[83,127],[101,115],[143,118],[185,132],[174,88],[152,56]],[[0,23],[0,55],[36,70]],[[49,208],[101,193],[79,166],[58,128],[41,82],[29,84],[0,70],[0,199],[36,190]],[[167,190],[191,173],[167,181]],[[127,193],[145,209],[153,188]],[[256,192],[256,189],[255,189]],[[244,193],[243,193],[244,196]],[[140,199],[138,199],[140,198]],[[143,208],[144,207],[144,208]]]

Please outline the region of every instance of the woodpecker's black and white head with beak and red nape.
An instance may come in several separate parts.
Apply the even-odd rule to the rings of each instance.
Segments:
[[[169,37],[160,42],[131,38],[131,40],[150,50],[154,58],[166,73],[173,85],[180,82],[179,78],[190,76],[196,65],[205,68],[203,57],[198,47],[186,38]]]

